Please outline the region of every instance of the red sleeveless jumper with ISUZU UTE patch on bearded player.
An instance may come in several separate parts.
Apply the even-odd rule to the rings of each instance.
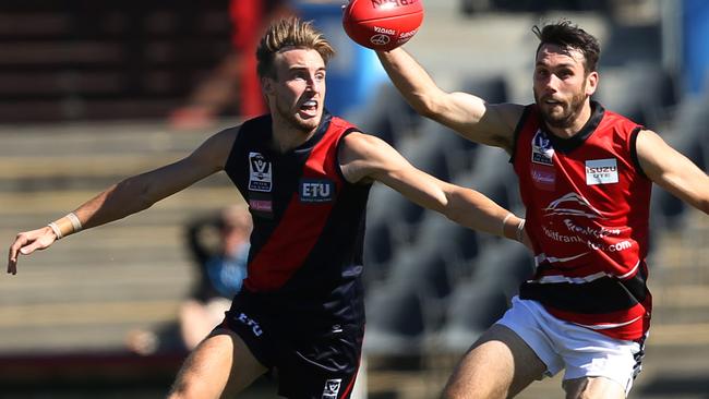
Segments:
[[[515,132],[512,162],[537,266],[520,298],[606,336],[640,340],[652,301],[646,280],[651,181],[637,161],[637,123],[591,102],[581,131],[545,131],[536,105]]]

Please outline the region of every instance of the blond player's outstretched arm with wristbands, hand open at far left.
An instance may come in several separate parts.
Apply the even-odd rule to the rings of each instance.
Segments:
[[[85,202],[68,216],[43,228],[19,233],[8,253],[8,273],[17,273],[17,256],[21,254],[29,255],[79,230],[147,209],[156,202],[221,170],[232,143],[233,130],[217,133],[188,157],[130,177]]]

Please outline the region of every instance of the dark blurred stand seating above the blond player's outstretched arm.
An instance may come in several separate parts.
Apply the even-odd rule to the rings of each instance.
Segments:
[[[0,5],[0,120],[161,118],[230,48],[228,0]]]

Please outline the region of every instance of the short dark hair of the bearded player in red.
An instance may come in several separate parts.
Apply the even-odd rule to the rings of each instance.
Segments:
[[[601,47],[593,35],[581,29],[578,25],[573,25],[570,21],[562,20],[556,23],[546,24],[541,29],[538,25],[534,25],[532,32],[540,40],[537,47],[537,53],[543,45],[556,45],[565,49],[575,49],[584,55],[586,73],[596,71]]]

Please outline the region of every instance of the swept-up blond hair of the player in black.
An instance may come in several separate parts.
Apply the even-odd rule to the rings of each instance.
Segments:
[[[266,29],[256,49],[256,72],[260,77],[275,76],[274,59],[276,52],[285,47],[313,49],[320,53],[325,64],[335,56],[335,49],[323,33],[313,26],[312,21],[304,22],[296,16],[280,19]]]

